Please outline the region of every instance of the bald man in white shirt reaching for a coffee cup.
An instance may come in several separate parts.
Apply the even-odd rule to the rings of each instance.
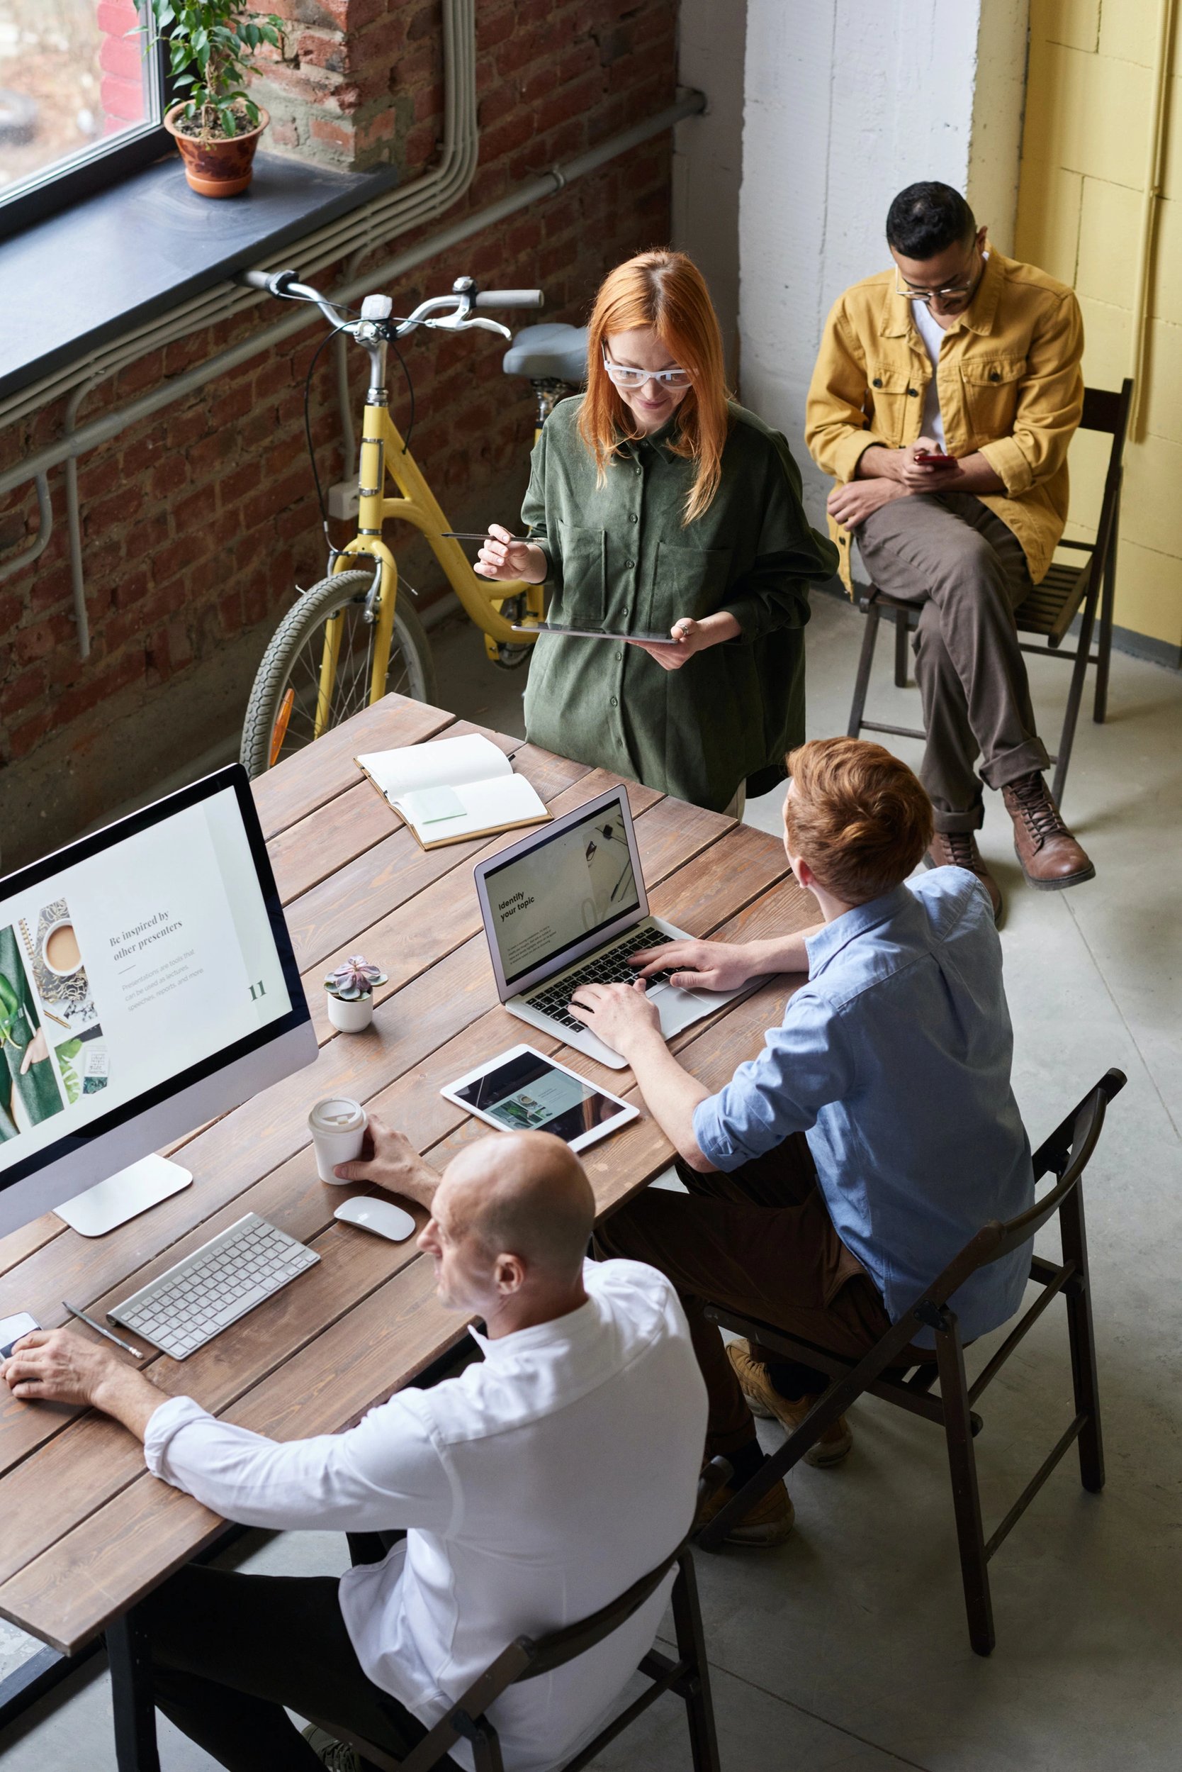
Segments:
[[[144,1602],[159,1708],[230,1772],[360,1765],[323,1731],[301,1737],[284,1705],[404,1756],[507,1643],[606,1605],[695,1512],[705,1389],[686,1318],[654,1269],[585,1260],[595,1207],[569,1146],[494,1132],[439,1177],[370,1116],[367,1150],[337,1178],[425,1207],[441,1302],[484,1320],[484,1361],[461,1377],[400,1391],[346,1434],[276,1444],[66,1329],[23,1336],[0,1366],[18,1398],[122,1421],[152,1474],[227,1519],[406,1531],[340,1581],[191,1566]],[[670,1586],[597,1652],[491,1706],[509,1765],[551,1767],[599,1726]]]

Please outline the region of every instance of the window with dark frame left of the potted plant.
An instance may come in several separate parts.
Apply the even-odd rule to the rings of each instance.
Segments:
[[[168,147],[135,0],[0,0],[0,236]]]

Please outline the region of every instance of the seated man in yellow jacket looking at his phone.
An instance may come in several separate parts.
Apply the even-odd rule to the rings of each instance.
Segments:
[[[1042,776],[1014,624],[1067,519],[1083,323],[1074,292],[991,248],[948,184],[900,191],[886,243],[893,268],[847,289],[826,321],[805,439],[836,480],[829,528],[847,587],[856,539],[877,588],[920,604],[927,865],[969,868],[999,914],[975,836],[982,780],[1001,789],[1031,886],[1095,874]]]

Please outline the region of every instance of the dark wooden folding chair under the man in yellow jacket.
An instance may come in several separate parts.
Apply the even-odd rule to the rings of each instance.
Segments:
[[[1033,652],[1038,657],[1063,659],[1063,663],[1074,666],[1070,689],[1067,693],[1067,711],[1063,714],[1060,746],[1058,753],[1051,758],[1054,764],[1054,783],[1051,792],[1058,806],[1063,804],[1067,767],[1070,764],[1072,744],[1076,742],[1076,721],[1079,718],[1083,679],[1088,664],[1095,664],[1095,702],[1092,707],[1092,718],[1097,725],[1102,725],[1104,716],[1108,714],[1108,666],[1113,650],[1116,540],[1120,533],[1120,482],[1124,475],[1124,450],[1131,402],[1132,381],[1127,377],[1120,386],[1120,393],[1111,393],[1108,388],[1085,388],[1083,418],[1079,422],[1081,429],[1102,431],[1113,439],[1108,452],[1108,473],[1104,478],[1104,498],[1100,501],[1100,521],[1095,532],[1095,540],[1060,542],[1060,548],[1069,548],[1074,553],[1085,553],[1088,558],[1083,565],[1053,563],[1042,583],[1035,585],[1031,594],[1014,613],[1019,634],[1038,634],[1046,641],[1046,645],[1037,645],[1019,640],[1023,652]],[[879,622],[884,613],[893,613],[895,617],[895,684],[897,688],[906,689],[907,634],[920,617],[920,606],[914,602],[902,602],[897,597],[888,597],[886,592],[875,590],[875,587],[870,585],[859,595],[858,608],[867,617],[867,627],[861,636],[861,656],[858,659],[858,675],[854,679],[854,700],[849,709],[849,737],[856,739],[863,732],[890,732],[898,739],[927,737],[921,728],[888,727],[879,719],[865,718],[870,668],[874,664],[874,649],[879,638]],[[1097,608],[1099,641],[1093,652],[1092,633],[1097,620]],[[1067,631],[1081,610],[1083,617],[1079,622],[1079,640],[1076,649],[1063,650]]]

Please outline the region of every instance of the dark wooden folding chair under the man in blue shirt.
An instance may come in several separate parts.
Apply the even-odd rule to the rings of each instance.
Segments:
[[[989,1595],[989,1559],[1074,1441],[1079,1441],[1079,1478],[1083,1487],[1097,1494],[1104,1487],[1100,1403],[1095,1341],[1092,1334],[1092,1294],[1081,1182],[1100,1136],[1108,1102],[1125,1086],[1125,1081],[1120,1070],[1108,1070],[1035,1152],[1035,1180],[1053,1173],[1058,1177],[1056,1185],[1042,1200],[1035,1201],[1030,1212],[1010,1219],[1008,1224],[992,1221],[978,1230],[943,1274],[914,1301],[911,1310],[904,1311],[890,1333],[863,1359],[842,1359],[826,1348],[813,1347],[812,1341],[776,1329],[773,1324],[741,1317],[737,1311],[723,1310],[721,1306],[707,1306],[707,1317],[725,1329],[744,1334],[750,1341],[771,1348],[782,1359],[817,1366],[833,1382],[817,1398],[799,1428],[767,1458],[758,1474],[698,1533],[696,1542],[702,1549],[718,1549],[730,1527],[743,1519],[748,1508],[766,1496],[773,1483],[778,1483],[805,1457],[829,1423],[836,1421],[858,1396],[868,1391],[872,1396],[881,1396],[888,1403],[897,1403],[900,1409],[911,1411],[911,1414],[936,1421],[945,1430],[969,1641],[978,1655],[989,1655],[996,1641]],[[969,1384],[964,1370],[960,1327],[948,1299],[978,1269],[998,1262],[1014,1249],[1021,1249],[1051,1217],[1058,1217],[1060,1221],[1061,1258],[1060,1262],[1046,1262],[1042,1256],[1031,1255],[1030,1278],[1040,1288],[1038,1297],[1017,1318],[1017,1324],[998,1352]],[[973,1435],[980,1432],[982,1419],[975,1414],[973,1403],[992,1384],[1023,1336],[1058,1294],[1063,1295],[1063,1302],[1067,1304],[1076,1414],[987,1540],[982,1526],[976,1460],[973,1455]],[[909,1350],[909,1341],[918,1324],[936,1331],[936,1350],[930,1359],[920,1364],[916,1364],[914,1354]],[[932,1396],[932,1384],[937,1377],[939,1396]]]

